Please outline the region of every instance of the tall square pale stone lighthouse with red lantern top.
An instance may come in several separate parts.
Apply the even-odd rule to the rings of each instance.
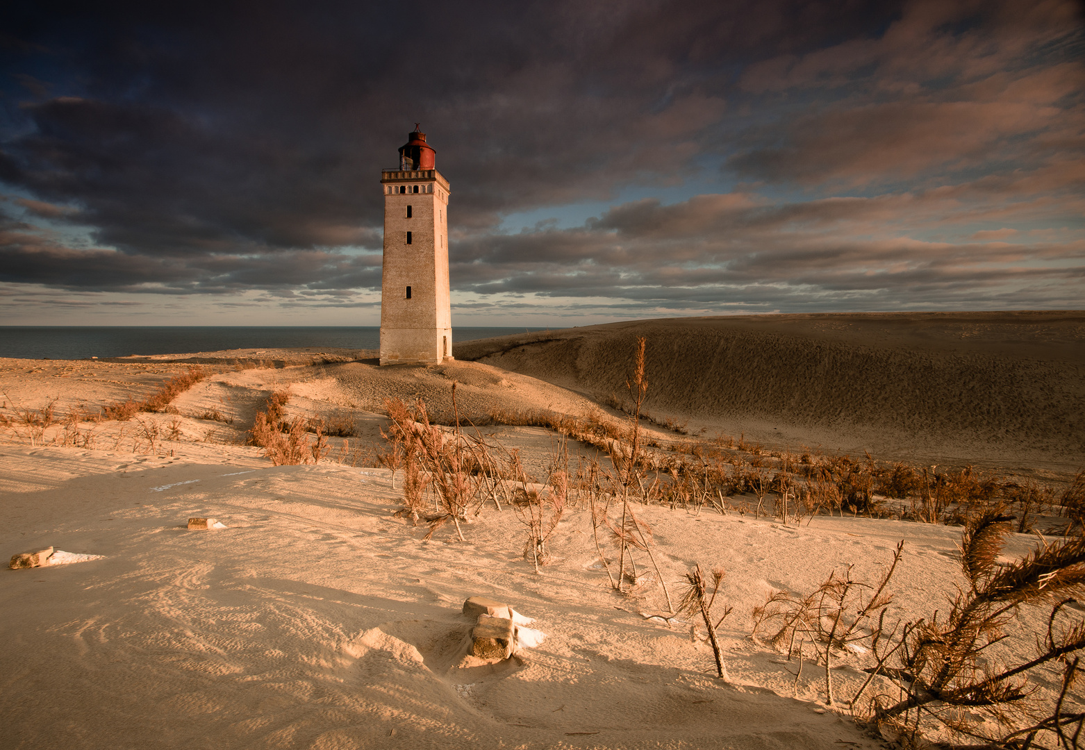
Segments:
[[[399,167],[381,170],[384,267],[381,272],[381,365],[451,359],[448,293],[448,180],[425,134],[408,134]]]

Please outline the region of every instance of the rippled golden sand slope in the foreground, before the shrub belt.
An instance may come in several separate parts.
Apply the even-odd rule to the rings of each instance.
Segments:
[[[846,707],[826,709],[819,670],[796,681],[795,661],[748,638],[750,612],[846,564],[877,577],[901,538],[894,619],[944,606],[959,582],[947,526],[643,508],[676,594],[695,563],[727,569],[724,683],[703,633],[641,614],[665,609],[654,575],[629,596],[610,589],[584,508],[536,574],[509,508],[473,518],[467,543],[451,526],[423,542],[393,516],[386,470],[173,448],[0,446],[2,548],[104,556],[0,571],[3,747],[878,748]],[[191,516],[228,529],[188,531]],[[1033,544],[1014,535],[1007,551]],[[509,662],[464,661],[471,595],[536,618],[546,640]],[[1026,611],[1003,653],[1031,653],[1043,626]],[[839,657],[838,696],[868,660]],[[1039,689],[1057,682],[1045,673]]]

